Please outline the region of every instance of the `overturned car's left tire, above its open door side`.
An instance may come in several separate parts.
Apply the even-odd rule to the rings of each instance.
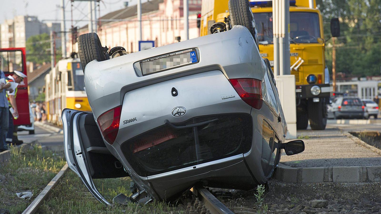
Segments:
[[[82,34],[78,37],[78,54],[83,72],[85,72],[86,65],[94,59],[99,62],[107,59],[101,40],[96,33]]]

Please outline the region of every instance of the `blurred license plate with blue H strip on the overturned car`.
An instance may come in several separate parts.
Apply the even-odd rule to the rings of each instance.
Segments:
[[[195,48],[140,61],[143,76],[199,62]]]

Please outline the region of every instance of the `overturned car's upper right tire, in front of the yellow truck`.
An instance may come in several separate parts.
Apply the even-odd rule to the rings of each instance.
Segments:
[[[251,12],[248,0],[229,0],[229,16],[232,27],[242,25],[246,27],[254,38],[258,46],[258,34],[255,29],[255,20]],[[259,48],[258,48],[259,49]]]

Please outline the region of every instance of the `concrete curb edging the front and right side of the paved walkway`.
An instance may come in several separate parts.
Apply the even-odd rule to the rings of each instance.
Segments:
[[[350,133],[343,133],[356,144],[366,147],[373,152],[381,155],[381,150],[367,144],[358,137]],[[286,183],[323,183],[323,182],[338,182],[338,183],[358,183],[358,182],[380,182],[381,181],[381,166],[333,166],[333,167],[306,167],[294,168],[279,164],[275,169],[274,179]]]

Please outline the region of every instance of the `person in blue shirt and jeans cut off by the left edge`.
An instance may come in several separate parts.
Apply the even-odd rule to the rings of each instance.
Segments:
[[[2,58],[0,56],[0,67],[2,65]],[[6,99],[6,89],[11,84],[5,84],[5,74],[0,70],[0,79],[4,78],[4,81],[0,81],[0,152],[7,150],[5,143],[6,133],[8,132],[8,100]]]

